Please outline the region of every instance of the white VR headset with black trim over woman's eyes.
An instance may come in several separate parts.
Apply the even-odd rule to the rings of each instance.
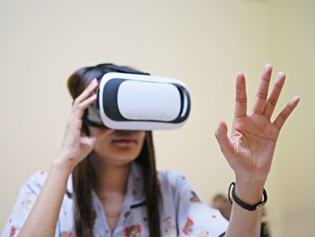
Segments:
[[[84,121],[115,130],[170,130],[184,125],[190,107],[180,80],[108,72],[99,80],[96,104],[86,109]]]

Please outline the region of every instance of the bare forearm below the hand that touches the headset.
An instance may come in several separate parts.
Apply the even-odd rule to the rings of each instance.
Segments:
[[[63,162],[54,162],[19,236],[54,236],[70,172]]]

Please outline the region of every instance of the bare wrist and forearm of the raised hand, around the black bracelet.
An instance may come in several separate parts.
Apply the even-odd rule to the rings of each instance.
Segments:
[[[262,200],[264,184],[236,182],[236,194],[248,205],[255,205]],[[261,210],[247,211],[233,201],[229,219],[227,237],[259,237],[261,227]]]

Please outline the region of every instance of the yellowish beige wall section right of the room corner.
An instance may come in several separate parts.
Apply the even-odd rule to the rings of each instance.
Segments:
[[[271,57],[288,74],[284,101],[301,95],[294,118],[286,124],[275,156],[282,236],[314,236],[315,232],[315,2],[269,1]]]

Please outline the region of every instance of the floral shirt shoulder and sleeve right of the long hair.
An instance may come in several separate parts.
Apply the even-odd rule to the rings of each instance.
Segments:
[[[207,233],[220,236],[225,232],[227,221],[218,210],[202,201],[184,175],[175,170],[167,170],[158,172],[158,179],[164,201],[161,211],[163,220],[173,216],[175,226],[184,235],[203,236]]]

